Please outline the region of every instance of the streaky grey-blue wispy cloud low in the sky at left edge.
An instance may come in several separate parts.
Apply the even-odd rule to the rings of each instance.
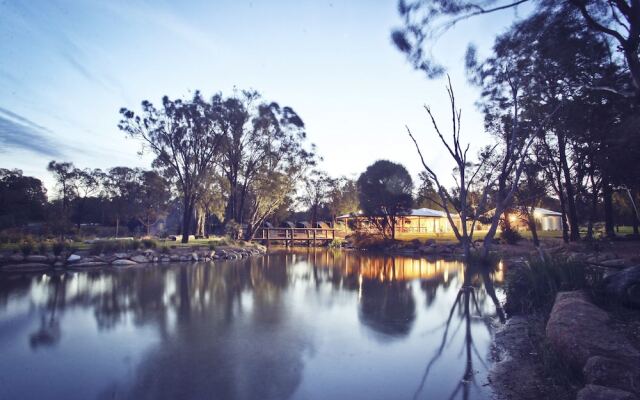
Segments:
[[[44,126],[0,108],[0,152],[28,150],[48,157],[62,157],[62,145],[50,138],[53,132]]]

